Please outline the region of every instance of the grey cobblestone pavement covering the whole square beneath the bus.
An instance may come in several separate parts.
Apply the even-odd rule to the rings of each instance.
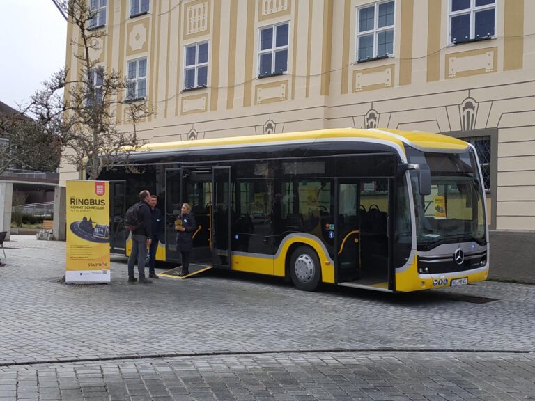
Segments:
[[[117,257],[111,284],[65,285],[63,242],[6,246],[0,401],[535,399],[533,285],[309,293],[233,272],[128,285]]]

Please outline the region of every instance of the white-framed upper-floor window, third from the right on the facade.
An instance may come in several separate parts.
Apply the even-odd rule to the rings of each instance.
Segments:
[[[260,29],[258,77],[288,71],[288,22]]]

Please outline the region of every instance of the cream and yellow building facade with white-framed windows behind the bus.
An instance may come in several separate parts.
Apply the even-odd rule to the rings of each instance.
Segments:
[[[491,230],[535,230],[535,1],[89,3],[91,29],[107,33],[92,56],[126,74],[125,100],[155,111],[142,138],[440,132],[476,146]],[[68,43],[77,34],[70,24]]]

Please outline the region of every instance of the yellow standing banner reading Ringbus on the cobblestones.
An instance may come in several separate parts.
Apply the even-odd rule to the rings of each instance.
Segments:
[[[109,283],[109,184],[67,181],[65,282]]]

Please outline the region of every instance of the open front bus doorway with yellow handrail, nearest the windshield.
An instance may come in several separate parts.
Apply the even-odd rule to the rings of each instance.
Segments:
[[[337,280],[389,290],[389,178],[336,180]]]

